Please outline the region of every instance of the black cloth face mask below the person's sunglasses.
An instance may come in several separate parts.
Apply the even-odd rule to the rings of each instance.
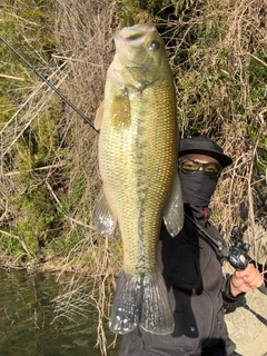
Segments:
[[[218,178],[210,178],[202,170],[188,175],[179,169],[179,176],[184,202],[196,207],[208,207]]]

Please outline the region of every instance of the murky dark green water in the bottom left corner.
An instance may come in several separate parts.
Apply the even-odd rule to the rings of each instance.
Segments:
[[[101,356],[95,348],[95,306],[86,317],[55,322],[51,300],[61,291],[53,274],[0,270],[0,356]],[[108,349],[108,356],[116,355],[118,343]]]

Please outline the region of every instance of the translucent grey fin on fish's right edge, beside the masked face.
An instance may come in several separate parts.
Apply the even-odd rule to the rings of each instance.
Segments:
[[[170,236],[177,236],[179,231],[182,229],[184,217],[185,214],[182,194],[180,188],[180,180],[177,172],[172,186],[172,191],[164,212],[165,226]]]

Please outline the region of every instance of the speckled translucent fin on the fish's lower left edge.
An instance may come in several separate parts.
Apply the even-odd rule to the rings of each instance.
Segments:
[[[98,195],[93,222],[96,230],[100,236],[112,236],[117,225],[117,219],[106,199],[103,187]]]

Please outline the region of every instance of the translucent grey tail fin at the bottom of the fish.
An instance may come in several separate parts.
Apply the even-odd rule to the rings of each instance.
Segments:
[[[127,334],[138,325],[151,334],[174,333],[174,316],[159,270],[146,276],[120,273],[109,328],[116,334]]]

